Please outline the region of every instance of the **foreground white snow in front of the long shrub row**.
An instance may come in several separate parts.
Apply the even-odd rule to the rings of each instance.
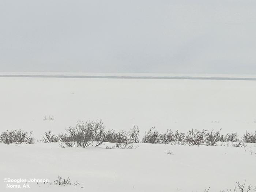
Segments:
[[[244,180],[256,186],[255,144],[245,148],[134,144],[138,148],[106,149],[113,145],[84,149],[60,148],[57,143],[0,144],[0,191],[203,192],[210,187],[210,192],[219,192]],[[80,185],[29,183],[30,189],[10,189],[3,182],[4,178],[52,182],[58,176]]]

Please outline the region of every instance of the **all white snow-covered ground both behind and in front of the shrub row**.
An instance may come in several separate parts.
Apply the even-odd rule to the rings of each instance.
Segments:
[[[102,118],[106,129],[140,135],[151,127],[256,130],[256,83],[242,80],[0,78],[0,132],[64,132],[76,120]],[[52,115],[53,121],[44,121]],[[0,191],[209,192],[234,188],[236,181],[256,186],[256,144],[245,148],[135,144],[135,149],[61,148],[58,143],[0,143]],[[168,154],[166,152],[172,152]],[[78,186],[30,183],[8,189],[4,178],[69,177]],[[15,183],[12,183],[15,184]],[[23,184],[23,183],[22,183]]]

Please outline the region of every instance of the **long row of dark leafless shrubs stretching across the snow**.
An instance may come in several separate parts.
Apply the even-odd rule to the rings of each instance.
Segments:
[[[129,131],[114,129],[105,129],[102,120],[99,121],[77,121],[75,127],[69,127],[65,133],[54,135],[51,131],[45,132],[43,138],[39,142],[53,143],[61,142],[62,147],[83,147],[100,146],[104,142],[116,143],[115,147],[126,148],[128,144],[140,143],[139,140],[140,129],[138,126],[133,126]],[[34,138],[32,131],[30,133],[22,131],[21,129],[13,131],[5,131],[0,135],[0,142],[5,144],[12,143],[33,143]],[[155,130],[155,127],[150,128],[144,133],[141,140],[142,143],[174,143],[194,145],[215,145],[217,142],[234,142],[235,147],[244,146],[243,143],[256,143],[255,133],[248,133],[247,131],[239,139],[237,133],[221,134],[219,131],[203,129],[190,129],[187,133],[173,132],[167,129],[165,133],[160,133]]]

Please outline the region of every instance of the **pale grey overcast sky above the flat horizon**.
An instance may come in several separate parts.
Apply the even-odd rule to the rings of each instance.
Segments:
[[[0,71],[256,74],[256,1],[0,0]]]

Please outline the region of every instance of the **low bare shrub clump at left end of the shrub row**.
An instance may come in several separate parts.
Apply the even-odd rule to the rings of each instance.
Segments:
[[[4,131],[0,135],[0,142],[5,144],[21,144],[21,143],[33,143],[34,138],[32,136],[32,131],[30,133],[23,131],[21,129],[16,129],[12,131]]]

